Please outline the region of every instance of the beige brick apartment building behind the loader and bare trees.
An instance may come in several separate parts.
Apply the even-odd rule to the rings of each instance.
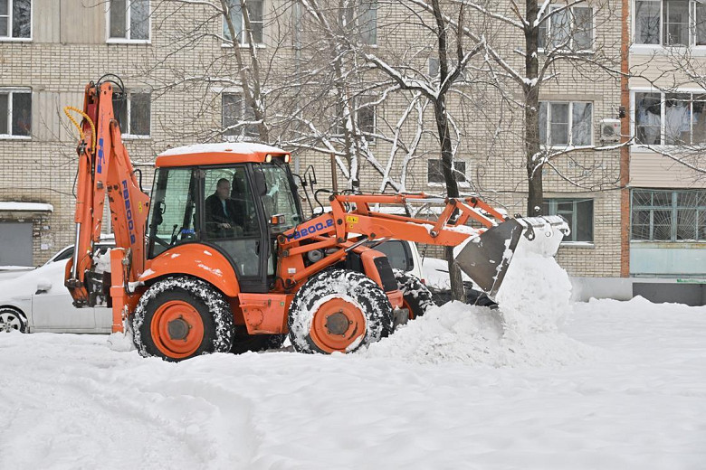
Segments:
[[[649,18],[654,19],[652,4],[644,7],[642,4],[647,2],[637,3],[640,12],[646,8],[645,11],[653,15]],[[286,77],[276,72],[296,70],[311,61],[316,56],[308,49],[314,47],[311,38],[320,33],[305,27],[302,18],[306,12],[290,6],[291,2],[250,0],[248,4],[253,42],[262,63],[267,64],[267,86],[271,90],[283,89]],[[405,56],[412,50],[411,45],[426,40],[424,28],[406,21],[408,10],[377,2],[361,5],[357,16],[365,18],[366,27],[358,32],[358,40],[378,56]],[[656,5],[661,4],[656,2]],[[698,10],[696,4],[689,5],[690,11]],[[631,5],[631,8],[635,13],[636,6]],[[270,15],[275,11],[279,16],[277,21],[272,21]],[[620,13],[619,4],[611,4],[611,8],[590,2],[574,5],[544,23],[542,38],[545,39],[540,43],[540,53],[556,47],[556,38],[561,38],[569,29],[576,34],[564,46],[568,52],[589,57],[597,56],[599,50],[615,47],[619,50],[622,42]],[[238,42],[246,51],[249,44],[243,34],[246,29],[243,14],[237,9],[233,14]],[[656,18],[663,15],[672,18],[662,11]],[[633,14],[633,18],[636,17]],[[676,28],[671,19],[665,24],[670,31]],[[636,26],[633,29],[637,31]],[[692,29],[687,26],[684,31]],[[0,0],[0,174],[3,174],[0,179],[0,238],[3,243],[0,264],[41,263],[72,242],[76,136],[62,108],[81,107],[82,89],[89,80],[98,80],[108,72],[124,80],[128,95],[118,108],[119,120],[126,146],[133,160],[140,164],[146,186],[150,181],[149,164],[155,155],[169,147],[257,135],[252,110],[245,105],[243,88],[238,84],[232,48],[224,43],[229,33],[224,28],[223,18],[207,5],[157,0]],[[494,33],[495,47],[506,54],[512,67],[521,70],[524,59],[521,54],[512,52],[523,44],[522,38],[511,31]],[[647,36],[644,41],[654,41],[653,33]],[[641,48],[651,48],[654,52],[667,47],[662,45],[662,29],[657,38],[660,42],[638,44],[634,41],[630,49],[631,66],[638,60],[647,64],[648,57],[652,60],[654,54],[642,53]],[[418,61],[418,70],[433,79],[438,70],[438,58],[434,48],[426,47],[426,50],[425,54],[417,53],[414,60]],[[645,65],[645,69],[653,70],[650,65]],[[210,73],[208,80],[205,80],[205,71]],[[670,164],[665,160],[667,157],[652,148],[671,142],[672,127],[668,123],[672,118],[667,118],[670,113],[666,110],[666,103],[674,100],[671,94],[659,92],[663,93],[658,105],[662,107],[659,112],[662,124],[655,124],[654,113],[645,120],[641,114],[644,111],[636,113],[635,109],[654,108],[654,104],[649,103],[650,99],[657,98],[654,95],[657,91],[650,88],[652,84],[648,86],[651,82],[640,81],[646,79],[630,81],[631,108],[626,112],[633,123],[631,135],[638,141],[652,140],[649,145],[634,146],[630,150],[630,182],[629,189],[625,190],[630,192],[630,203],[625,207],[620,190],[620,150],[610,148],[615,140],[605,132],[605,127],[620,117],[622,95],[615,75],[599,67],[577,72],[568,65],[558,66],[554,75],[556,78],[548,80],[539,93],[539,139],[543,148],[558,152],[567,147],[573,150],[569,157],[558,157],[543,170],[544,212],[565,216],[572,229],[559,249],[559,262],[572,276],[606,278],[611,285],[621,276],[698,277],[701,274],[698,263],[685,250],[691,249],[694,253],[694,247],[701,247],[701,225],[694,222],[690,241],[684,239],[690,235],[676,228],[677,221],[684,218],[702,219],[699,205],[702,196],[694,189],[698,183],[692,173],[687,172],[690,176],[685,176],[682,167]],[[663,76],[660,79],[667,80]],[[307,95],[305,85],[301,87],[301,96]],[[460,94],[471,96],[477,89],[478,85],[468,84]],[[526,167],[518,137],[522,122],[517,119],[517,111],[503,114],[510,101],[507,96],[486,91],[473,95],[475,108],[468,108],[467,112],[464,108],[467,103],[450,100],[449,106],[455,107],[454,111],[461,117],[456,122],[457,179],[462,192],[479,193],[510,214],[523,213],[527,185],[523,183]],[[693,97],[698,89],[692,86],[679,90],[679,96],[684,93],[692,93],[690,97]],[[329,94],[336,95],[336,92]],[[431,109],[420,111],[425,127],[419,131],[415,119],[396,127],[405,109],[414,109],[408,99],[381,101],[376,93],[368,92],[356,94],[355,100],[358,127],[367,136],[366,151],[377,158],[371,162],[361,157],[353,165],[360,188],[394,191],[404,181],[405,191],[443,193]],[[277,101],[274,97],[267,106],[295,108],[302,101]],[[692,119],[690,126],[692,121],[696,125],[698,118],[694,120],[693,116],[701,112],[699,100],[677,101],[687,103]],[[318,118],[317,125],[326,126],[327,119],[339,116],[340,112],[327,102],[316,108],[316,113],[312,111],[318,116],[311,116],[308,122],[314,126]],[[329,127],[336,126],[339,125],[329,124]],[[498,135],[499,129],[502,138],[493,140],[492,136]],[[332,136],[329,142],[340,143],[336,141],[336,132],[330,128],[328,131]],[[396,153],[399,141],[389,137],[395,132],[406,142],[415,141],[415,133],[420,132],[413,157],[405,159]],[[660,136],[659,142],[654,141],[655,132]],[[694,136],[698,140],[699,132],[697,126],[690,138]],[[278,138],[273,137],[271,141],[277,142]],[[596,152],[593,149],[596,146],[604,149]],[[320,187],[329,186],[329,156],[322,148],[314,147],[289,147],[297,155],[295,169],[303,174],[312,165]],[[339,185],[344,185],[351,179],[347,170],[352,166],[341,159],[339,162]],[[696,202],[689,202],[688,207],[680,205],[685,194]],[[663,200],[667,199],[671,205],[666,209],[654,205],[666,204]],[[688,211],[693,211],[694,215]],[[622,219],[625,217],[632,221],[627,224],[629,243],[621,241],[625,238]],[[662,223],[661,217],[669,219],[673,225],[665,228],[667,222]],[[664,240],[667,232],[669,240]],[[430,249],[428,253],[435,252]],[[674,262],[674,256],[688,259],[684,263]],[[656,265],[658,257],[669,261]],[[625,269],[627,261],[629,269]],[[629,294],[625,287],[620,295],[632,295],[633,283],[628,284]],[[628,284],[623,281],[621,286]]]

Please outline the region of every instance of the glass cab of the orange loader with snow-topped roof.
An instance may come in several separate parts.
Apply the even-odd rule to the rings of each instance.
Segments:
[[[200,243],[224,254],[243,292],[269,292],[277,266],[273,239],[302,221],[284,161],[289,154],[252,144],[201,147],[206,151],[174,149],[157,157],[148,258]]]

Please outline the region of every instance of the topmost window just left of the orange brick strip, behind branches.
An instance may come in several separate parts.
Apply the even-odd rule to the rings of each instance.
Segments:
[[[560,11],[558,11],[560,10]],[[539,49],[590,51],[593,49],[593,9],[549,7],[549,17],[539,24]]]

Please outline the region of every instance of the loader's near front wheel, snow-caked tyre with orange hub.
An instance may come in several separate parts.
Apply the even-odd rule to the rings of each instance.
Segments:
[[[371,278],[331,269],[299,289],[288,323],[298,353],[352,353],[392,333],[392,305]]]

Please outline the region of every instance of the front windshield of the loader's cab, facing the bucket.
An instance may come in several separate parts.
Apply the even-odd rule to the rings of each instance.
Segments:
[[[273,215],[279,215],[283,221],[277,230],[289,230],[301,222],[301,213],[296,196],[292,193],[287,167],[283,164],[262,164],[261,168],[267,183],[267,193],[262,196],[267,220],[271,220]]]

